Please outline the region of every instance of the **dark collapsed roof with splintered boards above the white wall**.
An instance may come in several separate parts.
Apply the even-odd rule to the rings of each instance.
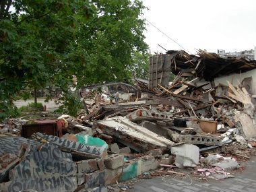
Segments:
[[[170,69],[178,75],[187,73],[191,76],[211,81],[216,77],[230,73],[243,73],[256,68],[256,61],[246,57],[223,57],[216,53],[197,51],[197,55],[189,55],[185,51],[167,51],[170,56]]]

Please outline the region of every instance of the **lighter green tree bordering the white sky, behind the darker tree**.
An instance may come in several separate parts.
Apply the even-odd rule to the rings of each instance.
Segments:
[[[146,24],[141,18],[145,8],[137,0],[97,0],[96,15],[82,28],[88,65],[84,82],[125,81],[132,75],[133,53],[145,53]],[[81,79],[81,78],[78,78]]]

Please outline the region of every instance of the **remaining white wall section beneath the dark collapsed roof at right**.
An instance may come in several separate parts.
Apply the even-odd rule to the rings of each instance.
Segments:
[[[230,75],[226,75],[226,76],[222,76],[222,77],[217,77],[214,79],[214,84],[215,86],[218,86],[219,84],[222,84],[224,86],[228,86],[228,83],[226,82],[227,80],[231,83],[233,86],[238,86],[238,84],[240,84],[240,82],[243,81],[243,79],[247,78],[247,77],[252,77],[253,78],[253,82],[252,82],[252,92],[253,94],[256,94],[256,69],[253,69],[251,71],[247,71],[245,73],[233,73]]]

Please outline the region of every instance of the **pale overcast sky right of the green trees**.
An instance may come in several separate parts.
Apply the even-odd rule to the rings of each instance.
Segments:
[[[196,49],[243,51],[256,46],[255,0],[143,0],[144,17],[190,53]],[[145,32],[151,51],[180,50],[151,24]]]

